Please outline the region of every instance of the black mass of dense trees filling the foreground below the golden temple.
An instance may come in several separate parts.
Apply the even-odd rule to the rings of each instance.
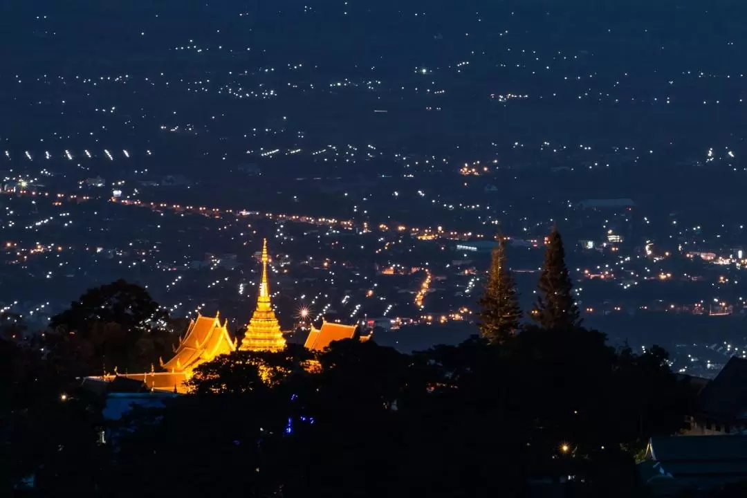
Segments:
[[[202,364],[190,395],[104,420],[105,396],[75,379],[81,359],[110,335],[130,364],[149,353],[93,331],[152,331],[158,307],[99,319],[93,308],[114,298],[93,297],[56,317],[56,332],[2,326],[2,494],[639,497],[634,455],[681,429],[689,406],[663,349],[613,349],[566,307],[557,327],[512,324],[500,340],[412,355],[359,338],[235,352]],[[75,323],[86,332],[59,332]]]

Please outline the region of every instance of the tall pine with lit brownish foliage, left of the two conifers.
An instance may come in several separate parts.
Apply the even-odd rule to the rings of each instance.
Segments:
[[[502,343],[518,329],[521,308],[516,284],[506,265],[506,240],[498,234],[498,246],[492,252],[490,275],[480,298],[480,333],[491,343]]]

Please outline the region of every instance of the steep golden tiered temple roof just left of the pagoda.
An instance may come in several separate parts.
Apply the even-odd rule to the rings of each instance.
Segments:
[[[179,347],[173,358],[162,363],[161,367],[169,372],[187,372],[205,361],[211,361],[217,355],[235,350],[236,346],[226,329],[226,323],[221,325],[217,315],[197,315],[197,320],[190,321],[184,339],[179,340]]]

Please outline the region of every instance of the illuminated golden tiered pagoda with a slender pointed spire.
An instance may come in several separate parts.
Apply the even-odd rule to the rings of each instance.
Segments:
[[[262,243],[262,281],[259,284],[257,308],[249,320],[247,332],[241,340],[241,351],[279,351],[285,348],[285,337],[270,303],[270,285],[267,283],[267,239]]]

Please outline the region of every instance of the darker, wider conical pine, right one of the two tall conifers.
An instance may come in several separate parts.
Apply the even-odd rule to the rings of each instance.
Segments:
[[[539,276],[539,296],[531,318],[543,329],[571,329],[581,324],[573,296],[573,285],[565,267],[565,249],[557,227],[553,227],[545,264]]]

